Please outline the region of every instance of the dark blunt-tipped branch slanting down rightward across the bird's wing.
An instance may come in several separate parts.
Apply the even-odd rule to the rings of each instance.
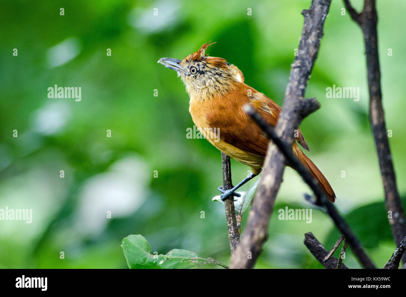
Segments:
[[[352,251],[355,256],[358,258],[359,262],[364,268],[376,268],[372,261],[369,259],[361,243],[355,237],[354,233],[350,229],[350,226],[344,220],[344,218],[338,213],[337,209],[334,207],[333,203],[328,201],[326,194],[320,188],[318,181],[313,177],[313,175],[306,169],[302,162],[293,154],[292,146],[283,142],[281,138],[276,135],[276,131],[273,127],[268,125],[266,121],[261,117],[261,115],[250,105],[245,105],[245,111],[247,114],[253,118],[253,120],[258,124],[258,126],[266,133],[266,136],[272,140],[272,142],[279,148],[281,153],[285,156],[285,159],[292,168],[294,168],[305,183],[313,190],[315,196],[317,197],[316,205],[326,209],[328,215],[333,220],[334,224],[337,226],[337,229],[341,232],[342,235],[346,238],[350,244]]]

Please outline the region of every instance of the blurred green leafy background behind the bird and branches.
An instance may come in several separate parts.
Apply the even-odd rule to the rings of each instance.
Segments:
[[[361,0],[352,2],[361,9]],[[186,138],[193,127],[188,95],[175,72],[157,61],[183,58],[217,41],[207,50],[211,56],[238,65],[248,85],[282,105],[303,24],[300,12],[309,5],[310,0],[1,1],[0,208],[32,208],[33,222],[0,221],[0,267],[125,268],[120,245],[130,234],[143,235],[158,254],[184,249],[229,264],[224,208],[211,201],[222,181],[220,152],[205,140]],[[307,88],[307,97],[317,97],[322,108],[300,129],[311,150],[307,155],[335,189],[336,206],[382,267],[395,245],[368,123],[363,38],[342,8],[333,1]],[[406,43],[399,32],[405,9],[402,0],[378,1],[384,110],[403,196]],[[107,48],[112,56],[106,56]],[[48,99],[54,84],[80,86],[82,101]],[[359,87],[360,100],[327,99],[326,87],[333,84]],[[234,182],[240,181],[249,168],[231,164]],[[257,268],[321,267],[302,241],[311,231],[330,248],[338,233],[328,217],[313,210],[306,224],[277,216],[285,206],[309,208],[304,192],[309,189],[296,172],[285,170]],[[112,211],[111,219],[106,211]],[[344,261],[359,267],[350,253]]]

